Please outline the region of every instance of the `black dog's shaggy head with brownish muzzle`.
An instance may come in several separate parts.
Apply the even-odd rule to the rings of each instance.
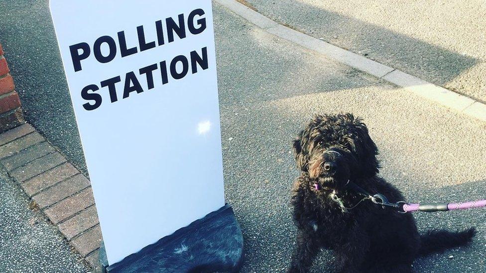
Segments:
[[[352,114],[316,115],[293,144],[297,166],[323,187],[378,173],[378,150],[360,118]]]

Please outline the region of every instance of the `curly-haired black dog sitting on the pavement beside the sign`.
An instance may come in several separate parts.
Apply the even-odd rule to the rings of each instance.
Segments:
[[[421,236],[412,214],[383,209],[351,189],[350,183],[390,202],[404,200],[376,176],[378,150],[352,114],[316,115],[293,147],[302,175],[293,188],[298,235],[289,272],[307,272],[321,247],[333,250],[338,272],[412,272],[415,258],[466,245],[476,233],[470,228]]]

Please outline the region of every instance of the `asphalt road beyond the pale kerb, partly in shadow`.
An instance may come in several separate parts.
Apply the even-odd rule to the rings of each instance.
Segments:
[[[486,102],[484,0],[246,0],[316,38]]]

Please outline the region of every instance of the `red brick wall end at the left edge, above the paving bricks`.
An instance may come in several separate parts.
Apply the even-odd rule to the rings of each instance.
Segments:
[[[15,92],[13,79],[9,72],[0,44],[0,133],[25,123],[20,108],[20,99]]]

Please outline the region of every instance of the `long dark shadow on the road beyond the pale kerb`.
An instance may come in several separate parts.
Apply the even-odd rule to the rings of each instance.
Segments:
[[[285,6],[248,2],[270,17],[278,16],[278,22],[440,86],[481,61],[304,1],[289,1]]]

